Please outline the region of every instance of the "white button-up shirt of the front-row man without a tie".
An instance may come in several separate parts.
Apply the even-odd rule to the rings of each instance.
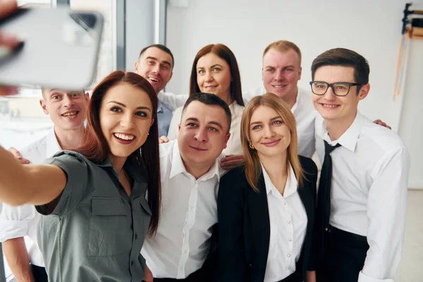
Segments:
[[[196,180],[185,170],[177,140],[160,145],[160,222],[141,250],[154,278],[186,278],[204,264],[217,223],[221,157]]]

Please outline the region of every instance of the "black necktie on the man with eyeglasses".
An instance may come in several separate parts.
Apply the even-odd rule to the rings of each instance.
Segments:
[[[331,214],[331,183],[332,183],[332,158],[331,152],[341,146],[331,146],[324,141],[324,161],[321,166],[319,192],[317,194],[317,220],[323,231],[329,227],[329,216]]]

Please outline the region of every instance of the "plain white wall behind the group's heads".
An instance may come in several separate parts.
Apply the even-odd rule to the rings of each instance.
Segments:
[[[353,49],[370,64],[371,91],[360,103],[362,114],[381,118],[398,132],[403,113],[419,113],[423,106],[422,61],[409,63],[407,73],[419,77],[407,78],[405,96],[393,102],[396,66],[400,47],[404,0],[190,0],[178,7],[171,1],[167,13],[166,45],[175,56],[173,78],[166,90],[188,94],[190,68],[195,54],[206,44],[223,43],[232,49],[240,65],[243,90],[262,84],[262,52],[267,44],[287,39],[302,50],[300,87],[309,89],[312,60],[321,52],[335,47]],[[422,2],[422,1],[420,1]],[[423,4],[412,8],[423,9]],[[413,43],[414,44],[414,43]],[[413,47],[417,56],[422,48]],[[422,58],[423,54],[420,54]],[[410,54],[410,60],[412,60]],[[410,97],[410,99],[409,99]],[[412,98],[414,97],[414,98]],[[420,106],[422,105],[422,106]],[[410,107],[415,107],[411,110]],[[412,156],[410,180],[423,186],[423,114],[411,125],[413,116],[405,117],[409,128],[401,136]],[[405,121],[405,120],[404,120]],[[404,123],[401,125],[405,126]],[[420,159],[422,161],[416,161]]]

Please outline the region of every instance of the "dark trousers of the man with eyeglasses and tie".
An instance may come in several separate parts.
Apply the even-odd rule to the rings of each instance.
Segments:
[[[325,232],[323,269],[317,271],[317,281],[357,282],[367,250],[366,237],[331,226]]]

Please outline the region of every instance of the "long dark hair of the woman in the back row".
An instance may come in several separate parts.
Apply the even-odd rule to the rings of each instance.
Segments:
[[[229,95],[233,101],[236,101],[238,105],[244,106],[243,91],[241,89],[241,75],[240,69],[238,68],[238,62],[236,61],[235,55],[226,45],[223,44],[209,44],[202,47],[200,51],[195,55],[195,59],[192,62],[191,77],[190,77],[190,95],[201,92],[200,87],[197,83],[197,62],[202,56],[209,53],[219,56],[228,63],[229,70],[231,71],[231,88]]]

